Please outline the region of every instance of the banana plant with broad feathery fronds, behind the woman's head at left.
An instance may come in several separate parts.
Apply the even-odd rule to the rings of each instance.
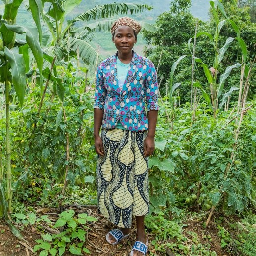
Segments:
[[[40,20],[36,20],[38,31],[41,32],[41,37],[48,36],[45,40],[45,52],[50,56],[56,56],[56,64],[60,64],[61,60],[68,60],[76,57],[76,52],[79,52],[80,58],[87,64],[96,64],[97,51],[90,45],[90,39],[94,33],[100,30],[109,30],[114,20],[109,18],[118,14],[138,13],[151,7],[146,4],[134,3],[111,3],[97,5],[95,8],[85,11],[66,21],[68,15],[77,7],[82,0],[30,0],[34,2],[33,13],[41,13],[48,32],[42,32]],[[45,3],[50,3],[50,7],[45,9]],[[33,14],[33,17],[36,15]],[[97,20],[97,21],[96,21]],[[80,26],[79,26],[80,25]],[[157,31],[152,25],[143,22],[142,25],[148,29]],[[49,65],[49,64],[48,64]]]

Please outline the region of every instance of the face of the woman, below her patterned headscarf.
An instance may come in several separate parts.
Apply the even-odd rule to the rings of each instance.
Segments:
[[[120,26],[115,30],[112,38],[119,53],[127,55],[131,53],[134,43],[137,42],[133,29],[128,26]]]

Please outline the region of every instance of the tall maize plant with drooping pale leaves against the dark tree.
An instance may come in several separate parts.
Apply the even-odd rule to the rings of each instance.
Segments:
[[[222,108],[222,106],[226,102],[228,96],[230,96],[233,91],[239,90],[238,87],[233,86],[227,93],[222,94],[223,89],[224,89],[225,80],[230,75],[232,69],[239,68],[242,64],[236,63],[234,65],[226,67],[225,72],[220,75],[219,81],[217,81],[218,80],[217,73],[218,73],[219,65],[221,64],[221,61],[222,61],[224,54],[227,51],[229,45],[231,43],[233,43],[234,40],[237,40],[238,46],[241,49],[243,64],[246,63],[247,49],[246,49],[244,40],[240,37],[239,28],[237,27],[237,25],[235,24],[234,21],[232,21],[231,19],[229,19],[227,17],[225,10],[224,10],[224,6],[221,3],[221,1],[219,1],[219,0],[210,1],[210,5],[211,5],[212,14],[213,14],[213,17],[214,17],[214,20],[216,23],[215,33],[214,33],[214,35],[212,35],[208,32],[199,32],[196,35],[196,37],[199,37],[201,35],[206,35],[209,38],[211,45],[213,46],[213,49],[215,52],[215,58],[214,58],[212,67],[209,69],[207,64],[203,63],[203,61],[200,58],[195,57],[195,62],[199,63],[203,67],[204,74],[205,74],[207,81],[210,85],[210,93],[207,93],[206,90],[203,88],[203,86],[199,82],[194,82],[193,86],[198,87],[201,90],[204,99],[206,100],[206,102],[209,105],[209,109],[213,113],[213,117],[216,118],[216,112],[218,109],[218,104],[219,104],[218,101],[219,101],[220,96],[223,96],[222,100],[219,104],[219,108]],[[219,12],[221,12],[222,15],[225,17],[224,20],[220,21]],[[225,44],[221,48],[219,48],[218,47],[219,34],[221,32],[222,27],[226,23],[229,23],[232,26],[232,28],[234,29],[234,31],[237,34],[237,37],[236,38],[228,37],[226,39]],[[192,38],[190,38],[188,41],[189,49],[190,49],[190,43],[191,43]],[[192,55],[191,49],[190,49],[190,52]]]

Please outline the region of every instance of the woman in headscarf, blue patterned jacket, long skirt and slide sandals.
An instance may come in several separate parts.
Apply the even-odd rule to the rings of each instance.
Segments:
[[[94,104],[98,205],[118,227],[106,235],[106,240],[115,245],[128,237],[135,216],[137,235],[131,256],[147,253],[147,157],[154,151],[158,113],[155,67],[132,50],[140,29],[128,17],[112,25],[112,41],[118,51],[98,65]]]

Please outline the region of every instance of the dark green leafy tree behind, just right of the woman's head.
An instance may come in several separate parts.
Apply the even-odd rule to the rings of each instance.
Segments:
[[[143,35],[147,42],[155,46],[155,48],[150,47],[145,51],[147,56],[158,65],[159,58],[159,69],[158,69],[158,80],[163,78],[160,91],[164,94],[165,83],[170,78],[171,65],[178,59],[181,55],[190,54],[188,50],[188,40],[194,33],[196,19],[190,13],[191,1],[190,0],[174,0],[171,2],[170,10],[168,12],[162,13],[155,25],[163,29],[161,34],[153,34],[150,32],[143,31]],[[203,22],[199,22],[200,26],[203,26]],[[180,70],[186,69],[188,71],[188,66],[190,65],[189,59],[184,59],[182,63],[177,67],[178,74]],[[177,81],[180,77],[175,76],[174,80]],[[182,73],[182,80],[186,81],[190,79],[190,72]],[[183,92],[183,87],[185,91],[188,91],[188,84],[184,83],[181,87]],[[189,96],[181,93],[182,102],[188,101]]]

